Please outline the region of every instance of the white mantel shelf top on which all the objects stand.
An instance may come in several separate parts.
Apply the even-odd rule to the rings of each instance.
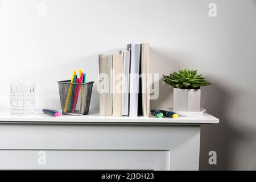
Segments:
[[[156,118],[151,117],[103,117],[96,111],[90,111],[88,115],[71,116],[61,115],[60,117],[52,117],[51,115],[37,112],[35,115],[14,116],[9,111],[0,110],[1,123],[54,123],[54,124],[210,124],[218,123],[219,119],[208,113],[204,113],[200,117],[178,117],[178,118]]]

